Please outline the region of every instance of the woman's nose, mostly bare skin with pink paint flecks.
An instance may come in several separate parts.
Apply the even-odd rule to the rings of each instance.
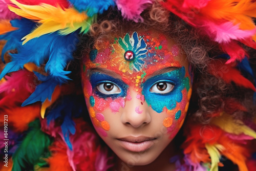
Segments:
[[[133,127],[140,127],[151,122],[148,106],[141,97],[141,93],[130,90],[131,99],[127,99],[121,115],[121,122]]]

